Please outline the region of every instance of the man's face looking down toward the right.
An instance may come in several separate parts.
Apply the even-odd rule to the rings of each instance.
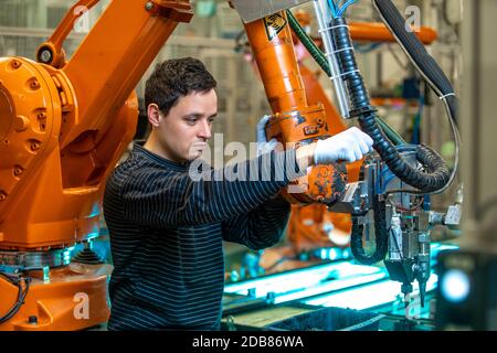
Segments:
[[[157,135],[166,156],[177,162],[199,158],[212,137],[212,122],[218,114],[218,96],[190,93],[180,97],[167,116],[160,114]]]

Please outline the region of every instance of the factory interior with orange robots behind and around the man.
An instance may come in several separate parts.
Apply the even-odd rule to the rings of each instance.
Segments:
[[[277,244],[222,242],[220,330],[496,331],[495,13],[495,0],[1,0],[0,331],[107,331],[106,180],[150,133],[146,79],[187,56],[218,82],[213,168],[235,159],[230,143],[250,149],[264,115],[286,148],[353,126],[374,140],[281,191]]]

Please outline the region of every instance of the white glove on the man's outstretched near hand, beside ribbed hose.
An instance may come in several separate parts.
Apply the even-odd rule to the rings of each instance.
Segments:
[[[373,140],[357,127],[347,129],[326,140],[318,140],[314,150],[316,164],[329,164],[339,160],[355,162],[372,149]]]

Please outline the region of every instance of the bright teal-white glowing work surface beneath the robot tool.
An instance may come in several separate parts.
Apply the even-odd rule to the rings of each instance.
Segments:
[[[456,248],[455,245],[434,243],[431,245],[432,260],[440,252]],[[331,259],[339,253],[337,249],[320,249],[318,254]],[[437,277],[432,274],[426,290],[434,289]],[[419,292],[417,282],[413,282],[413,287],[415,295]],[[273,292],[275,303],[300,299],[313,306],[364,309],[395,301],[401,295],[400,288],[399,282],[389,280],[384,268],[345,260],[228,284],[224,292],[248,296],[251,291],[251,297],[255,298],[266,298]],[[305,300],[308,297],[314,298]]]

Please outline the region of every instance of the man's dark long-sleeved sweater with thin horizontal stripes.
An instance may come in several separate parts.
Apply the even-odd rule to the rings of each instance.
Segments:
[[[295,165],[294,150],[271,152],[223,170],[204,169],[211,178],[195,180],[189,164],[135,143],[104,194],[114,263],[108,330],[219,329],[222,240],[262,249],[281,239],[290,206],[278,192],[303,175],[288,168],[277,178],[289,161]],[[241,170],[271,178],[219,178]]]

